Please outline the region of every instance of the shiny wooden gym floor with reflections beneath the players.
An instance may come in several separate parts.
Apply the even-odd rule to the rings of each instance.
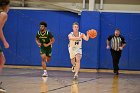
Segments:
[[[140,93],[140,74],[81,72],[73,80],[70,71],[5,68],[0,81],[7,93]]]

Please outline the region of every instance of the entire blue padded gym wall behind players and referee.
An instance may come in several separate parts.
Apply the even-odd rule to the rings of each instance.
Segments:
[[[7,65],[41,65],[39,48],[35,43],[40,21],[48,23],[48,29],[55,37],[52,60],[48,66],[71,67],[68,34],[72,31],[72,23],[76,21],[80,24],[81,32],[86,33],[88,29],[98,32],[97,38],[83,42],[82,68],[112,69],[110,51],[106,50],[105,42],[107,36],[119,27],[127,42],[120,68],[140,70],[140,14],[90,11],[77,15],[64,11],[11,9],[4,27],[10,44],[9,49],[3,49]]]

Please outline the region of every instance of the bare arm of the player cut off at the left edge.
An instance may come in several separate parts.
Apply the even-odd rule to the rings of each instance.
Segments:
[[[4,47],[9,48],[9,44],[6,41],[5,36],[3,34],[3,30],[2,30],[6,20],[7,20],[7,14],[6,13],[1,13],[1,16],[0,16],[0,39],[3,42]]]

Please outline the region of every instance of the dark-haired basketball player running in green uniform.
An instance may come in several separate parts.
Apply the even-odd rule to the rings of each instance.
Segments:
[[[43,77],[47,77],[46,62],[49,62],[52,54],[52,44],[55,39],[53,35],[46,29],[47,23],[40,22],[40,31],[36,35],[36,43],[40,47],[40,54],[42,58],[42,68],[44,70]]]

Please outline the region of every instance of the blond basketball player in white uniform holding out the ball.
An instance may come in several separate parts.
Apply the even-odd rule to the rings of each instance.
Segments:
[[[80,61],[82,58],[82,39],[85,41],[89,40],[88,34],[85,35],[79,32],[79,24],[74,22],[72,25],[73,32],[68,35],[69,38],[69,54],[72,63],[72,72],[75,72],[74,79],[78,78],[80,70]]]

